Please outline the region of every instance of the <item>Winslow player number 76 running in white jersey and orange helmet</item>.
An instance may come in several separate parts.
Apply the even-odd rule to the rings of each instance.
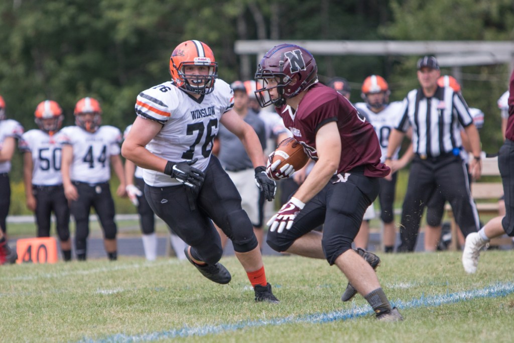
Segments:
[[[218,262],[223,249],[212,219],[232,240],[255,300],[278,302],[266,280],[241,196],[211,154],[221,122],[243,142],[255,168],[255,182],[271,201],[276,187],[265,174],[259,138],[232,110],[233,92],[225,81],[216,79],[217,63],[205,43],[180,43],[170,58],[170,74],[172,82],[146,89],[137,97],[137,117],[122,154],[144,168],[146,199],[188,244],[186,257],[202,275],[221,284],[231,280]]]

